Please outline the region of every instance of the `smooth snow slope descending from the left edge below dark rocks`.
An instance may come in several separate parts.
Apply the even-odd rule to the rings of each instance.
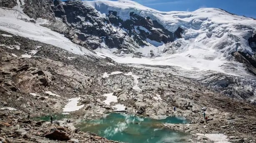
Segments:
[[[19,3],[19,2],[18,2]],[[74,44],[64,35],[40,26],[47,20],[37,19],[36,23],[29,22],[30,17],[25,15],[20,5],[13,9],[0,8],[0,29],[29,39],[40,41],[63,48],[75,54],[98,57],[88,49]]]

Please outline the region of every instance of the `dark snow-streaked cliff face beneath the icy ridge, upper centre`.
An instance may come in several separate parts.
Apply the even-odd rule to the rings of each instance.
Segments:
[[[72,27],[80,44],[88,44],[96,49],[107,46],[132,52],[133,48],[158,43],[168,43],[176,38],[181,38],[183,29],[178,27],[175,33],[169,32],[156,20],[149,17],[141,17],[133,12],[127,20],[117,16],[117,12],[109,11],[106,17],[99,15],[93,7],[85,5],[81,1],[55,0],[53,11],[56,17]],[[71,38],[71,37],[70,37]]]

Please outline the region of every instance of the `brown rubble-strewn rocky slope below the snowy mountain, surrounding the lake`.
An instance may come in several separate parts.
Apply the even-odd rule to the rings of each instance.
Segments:
[[[0,137],[4,143],[55,143],[48,138],[60,136],[58,133],[70,138],[68,142],[113,142],[95,134],[77,133],[73,124],[79,123],[77,118],[101,117],[115,110],[117,104],[124,105],[130,114],[156,119],[179,115],[191,119],[192,124],[182,129],[177,128],[182,125],[164,125],[191,133],[193,136],[187,140],[190,142],[213,142],[195,133],[226,133],[231,141],[234,136],[248,143],[256,140],[254,106],[227,98],[197,81],[174,75],[175,72],[169,70],[171,67],[135,68],[120,65],[109,58],[87,58],[3,31],[0,36]],[[28,56],[30,53],[33,55]],[[137,77],[138,82],[134,77]],[[112,92],[118,102],[105,104],[106,97],[103,95]],[[80,97],[78,105],[84,106],[78,111],[69,112],[73,123],[66,123],[64,119],[54,121],[54,124],[46,122],[41,125],[26,119],[28,114],[31,118],[59,114],[68,99],[74,97]],[[177,107],[176,112],[173,112],[174,106]],[[15,111],[8,111],[9,107]],[[213,118],[206,124],[207,131],[203,127],[202,107],[208,107],[206,114]],[[56,134],[49,137],[47,133]]]

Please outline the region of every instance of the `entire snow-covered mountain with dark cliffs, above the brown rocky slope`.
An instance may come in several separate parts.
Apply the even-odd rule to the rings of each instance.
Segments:
[[[173,74],[228,96],[256,96],[255,19],[216,8],[160,12],[128,0],[0,0],[0,7],[5,32],[95,59],[171,65]]]

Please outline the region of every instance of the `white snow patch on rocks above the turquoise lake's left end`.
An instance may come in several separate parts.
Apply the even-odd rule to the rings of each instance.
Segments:
[[[80,97],[71,98],[71,99],[68,99],[68,100],[69,100],[69,102],[63,108],[63,112],[77,111],[77,110],[79,110],[79,109],[81,109],[85,106],[84,104],[80,105],[80,106],[77,106],[77,104],[79,103]]]

